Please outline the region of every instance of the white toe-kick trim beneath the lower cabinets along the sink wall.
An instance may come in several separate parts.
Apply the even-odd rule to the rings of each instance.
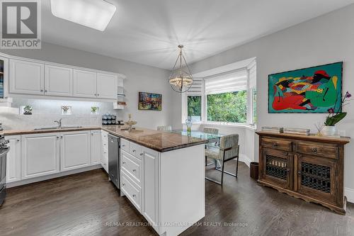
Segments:
[[[57,173],[57,174],[50,174],[50,175],[40,176],[40,177],[36,177],[36,178],[33,178],[33,179],[23,179],[23,180],[20,180],[20,181],[7,183],[6,184],[6,189],[10,189],[10,188],[13,188],[13,187],[16,187],[16,186],[25,185],[25,184],[32,184],[32,183],[35,183],[35,182],[44,181],[44,180],[48,180],[48,179],[55,179],[55,178],[62,177],[62,176],[67,176],[67,175],[70,175],[70,174],[88,172],[88,171],[91,171],[93,169],[100,169],[100,168],[102,168],[101,164],[95,164],[94,166],[91,166],[91,167],[84,167],[84,168],[80,168],[80,169],[72,169],[72,170],[69,170],[67,172],[60,172],[60,173]]]

